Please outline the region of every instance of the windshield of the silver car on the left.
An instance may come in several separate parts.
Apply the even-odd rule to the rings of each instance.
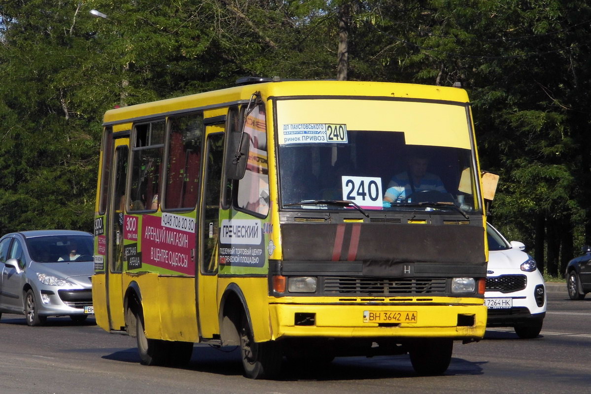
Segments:
[[[93,261],[93,237],[48,235],[27,238],[31,259],[38,263]]]

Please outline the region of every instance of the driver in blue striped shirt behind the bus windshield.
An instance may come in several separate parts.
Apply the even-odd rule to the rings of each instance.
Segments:
[[[429,159],[425,155],[414,155],[408,159],[408,170],[394,175],[388,184],[384,196],[384,207],[391,206],[391,203],[405,201],[418,191],[434,190],[446,193],[439,176],[427,172],[428,164]]]

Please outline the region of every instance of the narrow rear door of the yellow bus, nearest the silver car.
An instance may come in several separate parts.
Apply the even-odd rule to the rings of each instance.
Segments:
[[[106,273],[107,313],[109,328],[122,330],[125,327],[123,313],[123,232],[125,220],[125,184],[127,181],[129,137],[115,139],[113,171],[111,171],[111,203],[106,222],[109,229],[107,236],[108,268]]]

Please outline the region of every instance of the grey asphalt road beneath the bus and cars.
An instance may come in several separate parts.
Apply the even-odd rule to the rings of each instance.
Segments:
[[[565,286],[566,287],[566,286]],[[551,288],[551,286],[550,286]],[[280,380],[242,377],[238,351],[195,346],[184,368],[139,364],[135,340],[93,324],[49,318],[0,320],[0,393],[584,393],[591,386],[591,295],[570,301],[548,292],[540,337],[488,330],[478,343],[456,343],[443,376],[420,377],[408,356],[340,357],[319,370],[288,364]]]

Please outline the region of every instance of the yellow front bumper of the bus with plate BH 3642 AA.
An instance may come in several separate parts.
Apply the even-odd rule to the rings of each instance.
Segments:
[[[400,337],[480,340],[484,305],[269,305],[272,339]]]

